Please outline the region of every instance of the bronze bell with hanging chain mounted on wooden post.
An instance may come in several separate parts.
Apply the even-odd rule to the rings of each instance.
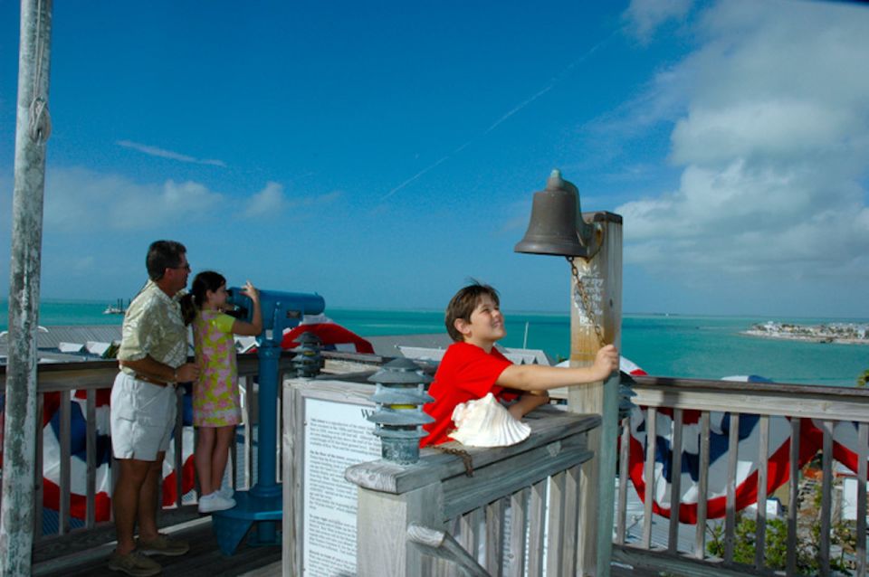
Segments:
[[[534,193],[528,231],[513,250],[590,259],[600,248],[595,228],[582,218],[577,187],[553,170],[546,188]]]

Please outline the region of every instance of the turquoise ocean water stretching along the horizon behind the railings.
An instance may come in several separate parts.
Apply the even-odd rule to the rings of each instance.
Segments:
[[[109,303],[45,299],[40,324],[118,325],[118,315],[103,315]],[[441,311],[359,310],[328,308],[335,322],[361,336],[411,335],[444,331]],[[528,324],[529,348],[554,358],[570,352],[567,312],[524,313],[505,310],[505,346],[522,346]],[[6,329],[8,307],[0,302],[0,330]],[[801,343],[740,335],[755,323],[769,320],[816,325],[829,322],[867,323],[866,319],[784,317],[701,317],[625,315],[622,355],[649,374],[719,379],[734,374],[759,374],[779,383],[854,386],[869,369],[869,345]]]

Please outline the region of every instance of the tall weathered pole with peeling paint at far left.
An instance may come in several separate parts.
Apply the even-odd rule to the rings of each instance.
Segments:
[[[0,574],[29,575],[36,459],[36,331],[43,237],[52,0],[22,0],[15,122]],[[42,479],[38,479],[42,482]]]

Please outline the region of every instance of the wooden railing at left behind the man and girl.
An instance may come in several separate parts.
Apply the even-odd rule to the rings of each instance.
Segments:
[[[291,354],[282,356],[279,370],[286,371],[291,368]],[[5,367],[0,367],[0,369]],[[237,443],[231,446],[232,455],[230,468],[232,470],[232,482],[236,488],[244,489],[251,487],[254,482],[253,468],[253,427],[257,416],[257,398],[254,393],[253,378],[258,373],[258,360],[256,355],[241,355],[238,359],[239,383],[243,391],[243,424],[238,431],[243,436],[242,455],[238,455]],[[82,363],[64,363],[64,364],[40,364],[37,373],[37,414],[36,414],[36,462],[34,471],[34,527],[33,527],[33,561],[40,561],[62,556],[66,553],[72,553],[81,549],[82,545],[93,546],[101,543],[108,543],[114,539],[114,527],[111,522],[98,522],[96,520],[96,479],[98,465],[96,463],[97,455],[97,393],[100,391],[109,392],[115,376],[118,374],[118,364],[116,361],[89,361]],[[0,379],[5,389],[5,372],[0,371]],[[83,403],[82,413],[86,421],[85,430],[85,447],[86,447],[86,481],[85,481],[85,514],[82,518],[71,516],[71,487],[72,487],[72,395],[76,392],[85,391],[86,399]],[[57,405],[59,413],[59,438],[58,450],[59,454],[59,506],[56,511],[57,515],[57,531],[51,532],[43,526],[44,518],[44,495],[43,495],[43,414],[45,407],[45,398],[47,394],[57,393],[60,396]],[[252,394],[253,393],[253,394]],[[183,429],[183,392],[178,390],[178,413],[176,430]],[[280,398],[275,402],[278,406],[275,408],[278,414],[282,414],[280,407]],[[108,428],[108,418],[103,423]],[[280,428],[279,428],[280,431]],[[106,431],[107,433],[108,431]],[[173,439],[174,443],[174,470],[181,471],[183,464],[183,455],[185,452],[192,452],[193,446],[186,446],[184,435],[176,434]],[[193,439],[195,444],[196,436],[187,435],[188,442]],[[77,439],[81,442],[80,439]],[[278,447],[281,444],[278,443]],[[238,475],[234,463],[239,462],[237,459],[242,459],[244,468],[241,475]],[[117,470],[111,468],[110,470]],[[280,468],[277,473],[281,474]],[[278,479],[280,480],[280,479]],[[198,516],[196,512],[196,495],[190,498],[188,495],[185,498],[185,491],[182,488],[182,476],[175,476],[176,481],[176,499],[172,506],[163,507],[160,516],[158,516],[158,525],[161,527],[177,525],[187,520],[191,520]],[[114,479],[110,481],[110,487],[114,487]],[[197,488],[197,487],[196,487]],[[196,489],[195,489],[196,491]],[[189,492],[187,492],[189,494]]]

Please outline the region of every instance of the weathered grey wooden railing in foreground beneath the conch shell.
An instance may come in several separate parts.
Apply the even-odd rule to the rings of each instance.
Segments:
[[[579,532],[593,530],[578,526],[579,468],[593,455],[587,433],[600,418],[545,407],[528,422],[531,436],[519,445],[466,448],[473,476],[437,449],[409,467],[349,468],[360,487],[358,575],[576,574]]]

